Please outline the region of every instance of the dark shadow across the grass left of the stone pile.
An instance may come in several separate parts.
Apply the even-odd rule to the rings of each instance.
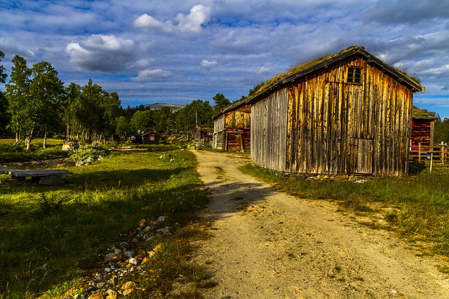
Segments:
[[[157,171],[157,179],[179,171]],[[147,176],[152,172],[137,171],[137,174]],[[102,260],[107,248],[130,242],[126,233],[140,219],[167,216],[164,225],[177,222],[182,227],[191,223],[196,211],[207,202],[206,194],[192,188],[192,184],[165,190],[128,190],[127,195],[121,193],[86,203],[65,202],[53,209],[46,209],[39,202],[29,204],[26,209],[17,204],[2,204],[0,298],[40,293],[82,277],[83,272]]]

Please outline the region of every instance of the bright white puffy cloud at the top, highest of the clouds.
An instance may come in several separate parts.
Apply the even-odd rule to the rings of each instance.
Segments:
[[[190,13],[188,15],[184,15],[182,13],[177,14],[173,20],[177,23],[177,25],[173,25],[174,22],[172,20],[161,22],[145,13],[140,15],[140,17],[134,21],[134,26],[141,29],[154,29],[166,33],[173,32],[175,29],[180,32],[199,33],[201,32],[201,26],[209,20],[210,7],[196,5],[190,9]]]

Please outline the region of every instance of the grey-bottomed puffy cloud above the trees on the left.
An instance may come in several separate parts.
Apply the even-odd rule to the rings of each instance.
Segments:
[[[69,43],[65,51],[70,63],[89,71],[119,71],[133,60],[135,43],[113,35],[94,34],[83,41]]]

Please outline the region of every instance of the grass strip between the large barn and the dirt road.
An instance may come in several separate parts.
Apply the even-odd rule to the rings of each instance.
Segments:
[[[382,214],[388,224],[375,221],[370,226],[396,230],[413,242],[425,242],[423,250],[427,253],[449,256],[447,168],[434,169],[432,173],[424,169],[405,178],[368,178],[363,183],[284,177],[252,165],[241,169],[300,198],[335,201],[343,211],[351,210],[361,216]]]

